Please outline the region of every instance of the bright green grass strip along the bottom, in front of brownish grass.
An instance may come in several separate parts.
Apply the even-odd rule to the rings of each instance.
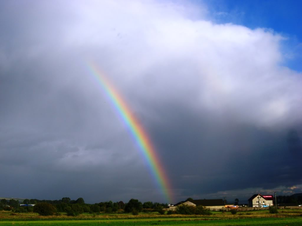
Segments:
[[[124,219],[124,220],[71,220],[71,221],[0,221],[0,225],[54,225],[54,226],[145,226],[145,225],[202,225],[202,226],[300,226],[302,218],[252,218],[230,220],[203,220],[198,218],[158,218],[158,219]]]

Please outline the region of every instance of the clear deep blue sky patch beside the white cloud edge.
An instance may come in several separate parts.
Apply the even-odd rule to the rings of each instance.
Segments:
[[[206,4],[217,23],[239,24],[252,29],[273,29],[286,37],[282,43],[286,55],[284,64],[302,71],[302,1],[211,0],[206,1]]]

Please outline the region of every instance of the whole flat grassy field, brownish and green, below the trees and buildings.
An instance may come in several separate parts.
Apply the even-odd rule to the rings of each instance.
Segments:
[[[39,216],[36,213],[19,213],[0,211],[0,226],[2,225],[204,225],[204,226],[232,226],[232,225],[260,225],[260,226],[301,226],[302,210],[285,209],[278,214],[269,214],[267,210],[238,212],[213,212],[210,216],[201,215],[159,215],[158,213],[131,214],[82,214],[77,217]]]

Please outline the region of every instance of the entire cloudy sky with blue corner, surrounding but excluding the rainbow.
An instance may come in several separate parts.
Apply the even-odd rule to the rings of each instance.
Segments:
[[[300,1],[0,1],[0,197],[302,192]],[[151,141],[167,200],[98,67]]]

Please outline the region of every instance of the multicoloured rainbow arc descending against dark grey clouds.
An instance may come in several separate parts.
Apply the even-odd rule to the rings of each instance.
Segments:
[[[114,105],[117,113],[120,115],[126,126],[128,127],[132,137],[136,141],[140,152],[146,159],[146,162],[149,165],[151,174],[153,174],[159,188],[162,192],[162,195],[165,196],[165,200],[168,203],[172,201],[171,189],[169,187],[169,179],[165,170],[160,163],[159,157],[156,154],[156,151],[143,127],[140,125],[137,118],[131,113],[130,108],[127,106],[126,102],[110,83],[110,81],[105,77],[94,63],[88,62],[88,69],[97,79],[102,90],[108,96],[108,99]]]

